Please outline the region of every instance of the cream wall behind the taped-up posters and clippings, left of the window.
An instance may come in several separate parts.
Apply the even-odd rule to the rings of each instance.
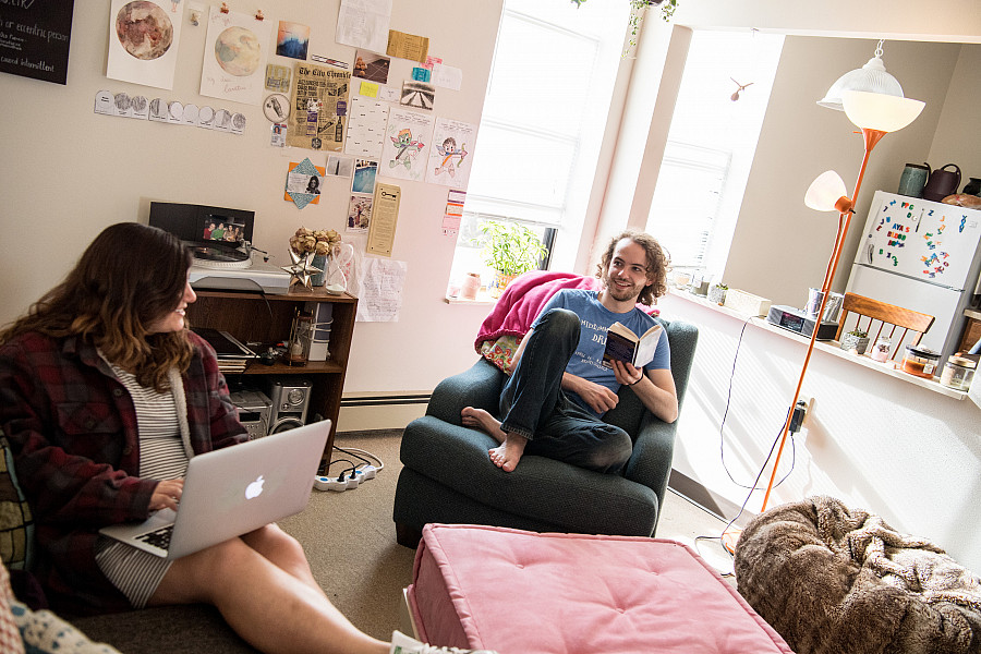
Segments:
[[[0,74],[0,324],[56,284],[106,226],[146,222],[150,202],[254,210],[254,242],[277,265],[289,263],[288,241],[299,227],[344,228],[350,179],[325,177],[319,203],[302,209],[284,199],[290,162],[308,156],[325,166],[326,153],[270,145],[272,123],[262,104],[201,95],[205,50],[213,46],[206,25],[192,25],[190,12],[201,8],[206,19],[210,4],[220,2],[175,3],[183,23],[170,90],[106,76],[116,4],[75,4],[64,86]],[[171,2],[160,4],[169,10]],[[310,55],[353,65],[355,48],[335,40],[339,0],[231,0],[228,5],[244,14],[261,10],[271,27],[270,46],[279,21],[290,21],[310,27]],[[390,28],[428,37],[428,53],[461,74],[459,90],[437,87],[432,110],[421,111],[480,124],[501,5],[501,0],[393,0]],[[295,74],[296,60],[272,56],[269,62],[290,65]],[[401,88],[417,65],[392,58],[389,85]],[[233,134],[99,114],[94,110],[99,90],[221,105],[241,113],[245,128]],[[346,392],[432,389],[473,362],[473,337],[487,311],[443,301],[456,245],[456,237],[443,233],[449,187],[385,175],[379,169],[378,181],[401,189],[390,258],[405,263],[402,305],[398,322],[358,324]]]

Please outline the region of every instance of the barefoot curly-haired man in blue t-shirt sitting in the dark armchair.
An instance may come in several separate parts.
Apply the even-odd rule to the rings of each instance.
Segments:
[[[521,341],[513,373],[501,391],[498,421],[467,407],[464,425],[491,434],[500,445],[491,460],[506,472],[525,452],[598,472],[618,473],[633,443],[621,428],[603,422],[629,385],[644,407],[665,422],[678,417],[670,350],[663,329],[649,362],[610,359],[604,364],[607,332],[619,323],[633,335],[656,325],[637,307],[667,292],[667,257],[653,237],[627,231],[613,239],[597,266],[600,291],[562,289],[542,308]]]

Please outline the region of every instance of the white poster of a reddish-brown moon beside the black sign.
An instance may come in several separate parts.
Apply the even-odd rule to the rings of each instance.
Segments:
[[[170,0],[112,0],[106,76],[172,89],[182,16]]]

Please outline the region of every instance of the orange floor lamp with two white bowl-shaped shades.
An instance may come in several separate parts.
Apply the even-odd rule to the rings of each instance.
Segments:
[[[864,156],[862,157],[862,167],[859,169],[858,180],[855,183],[855,191],[851,197],[846,195],[847,190],[845,182],[833,170],[823,172],[815,179],[808,192],[804,194],[804,204],[812,209],[819,211],[838,211],[838,231],[835,235],[835,246],[832,250],[831,257],[827,261],[827,269],[824,274],[824,283],[821,286],[821,306],[818,308],[818,316],[824,315],[824,305],[827,303],[832,282],[835,279],[835,270],[838,268],[838,259],[841,257],[841,247],[845,244],[845,238],[848,235],[848,227],[851,222],[855,202],[858,198],[859,191],[862,187],[862,178],[865,174],[865,166],[869,164],[869,155],[872,148],[889,132],[901,130],[911,123],[920,114],[925,106],[920,100],[897,97],[893,95],[884,95],[879,93],[869,93],[863,90],[846,90],[843,94],[843,104],[848,120],[861,129],[864,140]],[[794,390],[794,399],[790,400],[790,407],[797,405],[800,399],[800,389],[803,386],[804,375],[808,372],[808,364],[811,362],[811,354],[814,351],[814,342],[818,339],[818,325],[811,332],[808,341],[808,351],[804,355],[803,365],[800,368],[800,376],[797,379],[797,388]],[[763,506],[760,512],[766,510],[770,502],[770,493],[773,491],[773,483],[776,479],[777,467],[780,462],[780,455],[784,452],[784,445],[787,443],[787,436],[790,433],[790,419],[794,412],[787,412],[787,419],[784,422],[784,431],[780,436],[780,445],[777,449],[776,460],[773,463],[773,472],[770,475],[770,483],[766,485],[766,494],[763,496]],[[723,544],[730,552],[735,552],[736,540],[738,540],[738,530],[727,531],[723,534]]]

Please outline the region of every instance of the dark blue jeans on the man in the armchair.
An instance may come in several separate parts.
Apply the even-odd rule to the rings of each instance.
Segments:
[[[579,316],[571,311],[553,308],[542,316],[500,393],[500,427],[529,439],[525,455],[619,473],[633,450],[630,436],[602,422],[561,388],[579,335]]]

